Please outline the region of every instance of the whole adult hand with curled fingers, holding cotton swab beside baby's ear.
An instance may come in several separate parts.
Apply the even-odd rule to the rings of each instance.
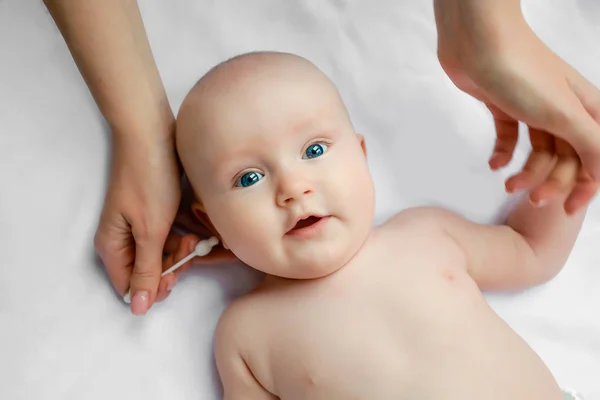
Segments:
[[[190,254],[200,238],[210,236],[210,231],[193,216],[193,193],[187,181],[181,196],[172,140],[164,138],[140,146],[145,141],[128,143],[131,138],[115,135],[111,175],[95,245],[115,289],[121,295],[130,289],[131,310],[143,315],[154,302],[168,297],[178,276],[192,264],[231,261],[236,257],[217,246],[208,255],[194,258],[161,278],[164,270]],[[191,234],[173,229],[173,222]],[[164,259],[163,252],[167,255]]]

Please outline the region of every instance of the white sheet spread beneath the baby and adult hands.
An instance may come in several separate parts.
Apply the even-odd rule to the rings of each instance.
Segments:
[[[435,55],[431,1],[141,2],[177,111],[210,66],[240,52],[297,52],[339,85],[367,137],[377,221],[442,204],[490,221],[508,171],[486,168],[490,115]],[[600,86],[595,0],[524,2],[553,49]],[[95,259],[106,126],[41,2],[0,0],[0,399],[216,399],[212,334],[258,275],[240,265],[185,275],[145,318],[129,314]],[[600,399],[600,205],[551,283],[488,296],[560,384]]]

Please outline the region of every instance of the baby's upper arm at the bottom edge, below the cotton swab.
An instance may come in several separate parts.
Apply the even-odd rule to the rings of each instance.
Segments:
[[[215,332],[215,359],[223,384],[224,400],[275,400],[256,380],[242,357],[241,340],[245,336],[238,311],[230,307],[221,316]]]

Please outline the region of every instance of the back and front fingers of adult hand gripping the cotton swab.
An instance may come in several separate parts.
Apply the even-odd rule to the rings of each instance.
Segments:
[[[113,135],[112,165],[96,250],[115,289],[131,287],[131,310],[145,314],[161,281],[163,246],[181,190],[173,139]]]

